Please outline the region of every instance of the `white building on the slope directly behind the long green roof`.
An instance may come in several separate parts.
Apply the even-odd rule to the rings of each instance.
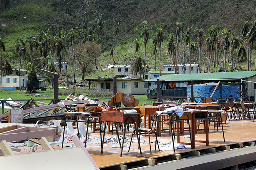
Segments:
[[[198,73],[198,66],[199,64],[191,64],[191,73]],[[163,66],[165,71],[175,71],[173,64],[166,64]],[[190,74],[189,64],[178,64],[178,74]]]

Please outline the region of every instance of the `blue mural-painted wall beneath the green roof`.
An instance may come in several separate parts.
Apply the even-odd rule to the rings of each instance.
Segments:
[[[207,85],[207,86],[200,86],[200,85],[195,86],[194,85],[194,98],[210,97],[212,92],[214,91],[215,87],[216,86],[212,86],[212,85]],[[238,94],[237,87],[239,87],[239,86],[222,85],[222,98],[226,99],[226,97],[240,97],[240,95]],[[191,97],[191,87],[190,86],[187,86],[187,97],[188,98]],[[214,92],[214,94],[212,96],[212,98],[216,98],[216,97],[219,97],[219,87],[216,89],[216,91]],[[196,100],[199,101],[200,98],[196,98]],[[231,98],[231,100],[233,100],[233,99]]]

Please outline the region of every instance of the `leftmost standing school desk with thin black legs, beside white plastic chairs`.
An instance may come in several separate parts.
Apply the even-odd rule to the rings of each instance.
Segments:
[[[90,112],[64,112],[65,118],[64,118],[64,129],[63,129],[63,139],[62,139],[62,146],[61,148],[63,148],[63,143],[64,143],[64,134],[65,134],[65,125],[66,122],[76,122],[77,125],[77,130],[79,133],[79,127],[78,127],[78,122],[84,122],[87,123],[87,130],[86,130],[86,137],[85,137],[85,142],[84,142],[84,147],[86,147],[86,141],[87,141],[87,134],[88,134],[88,129],[89,129],[89,123],[99,123],[99,125],[101,125],[101,113],[90,113]],[[76,120],[67,120],[67,116],[74,116],[76,118]],[[78,117],[88,117],[87,120],[78,120]],[[94,121],[94,122],[90,122],[90,118],[93,117],[97,117],[99,119],[99,121]],[[100,134],[101,134],[101,130],[100,130]],[[79,137],[79,135],[78,135]],[[101,146],[103,145],[102,143],[102,137],[101,137]]]

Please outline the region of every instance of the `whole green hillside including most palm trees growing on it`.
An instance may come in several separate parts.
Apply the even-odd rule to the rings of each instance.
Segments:
[[[73,49],[76,52],[74,54],[75,75],[82,77],[82,72],[86,77],[95,77],[96,74],[112,75],[111,71],[102,71],[102,69],[109,64],[133,64],[136,56],[144,58],[145,46],[143,38],[140,41],[141,30],[135,31],[135,28],[144,20],[147,21],[146,27],[149,33],[146,64],[153,71],[154,43],[156,44],[156,70],[159,70],[159,42],[154,41],[159,30],[156,30],[158,27],[155,24],[162,26],[161,70],[163,70],[163,64],[172,64],[173,60],[178,60],[177,64],[189,64],[189,49],[191,49],[191,63],[200,61],[201,72],[231,71],[231,69],[246,71],[255,70],[256,67],[255,43],[253,44],[255,38],[253,33],[256,32],[255,1],[1,0],[0,11],[0,24],[7,25],[0,25],[0,38],[6,41],[2,58],[7,59],[15,68],[19,68],[20,58],[22,58],[23,69],[25,69],[25,60],[31,63],[34,61],[34,66],[38,68],[47,66],[46,61],[65,60],[71,68],[72,48],[70,47],[73,44],[70,32],[73,31],[76,34],[76,38],[73,39]],[[246,21],[248,21],[247,25],[245,25]],[[212,25],[219,27],[219,31],[211,32],[214,31],[213,27],[208,30]],[[241,30],[244,25],[246,30],[242,36]],[[189,35],[187,41],[186,35]],[[34,42],[31,50],[29,48],[31,41],[28,39],[37,41],[38,47]],[[49,47],[42,49],[46,39],[49,40]],[[19,51],[22,41],[26,43],[24,57],[22,52],[16,52],[17,45],[15,46],[19,44]],[[85,41],[91,44],[80,45]],[[59,51],[60,54],[57,54],[57,42],[63,45],[62,52]],[[136,42],[140,46],[138,54],[135,54]],[[191,48],[189,48],[189,42]],[[216,49],[217,43],[218,49]],[[98,50],[95,50],[94,44],[99,44]],[[172,47],[172,50],[169,47]],[[84,49],[84,52],[78,51],[80,48]],[[112,49],[113,56],[110,56]],[[168,54],[168,51],[172,52]],[[46,56],[50,58],[46,60]],[[79,56],[89,58],[83,61],[89,63],[88,67],[82,68],[82,62],[78,61]],[[232,67],[230,66],[231,56],[233,56]],[[218,65],[215,62],[218,62]],[[58,71],[55,70],[55,72]],[[61,74],[64,79],[65,72]],[[71,69],[68,74],[73,75]]]

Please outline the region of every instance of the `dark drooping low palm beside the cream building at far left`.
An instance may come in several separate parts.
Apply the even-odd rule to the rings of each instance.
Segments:
[[[31,63],[27,63],[27,67],[29,67],[29,76],[27,77],[27,92],[37,93],[37,91],[35,90],[35,87],[38,83],[37,70],[35,70],[35,67]]]

